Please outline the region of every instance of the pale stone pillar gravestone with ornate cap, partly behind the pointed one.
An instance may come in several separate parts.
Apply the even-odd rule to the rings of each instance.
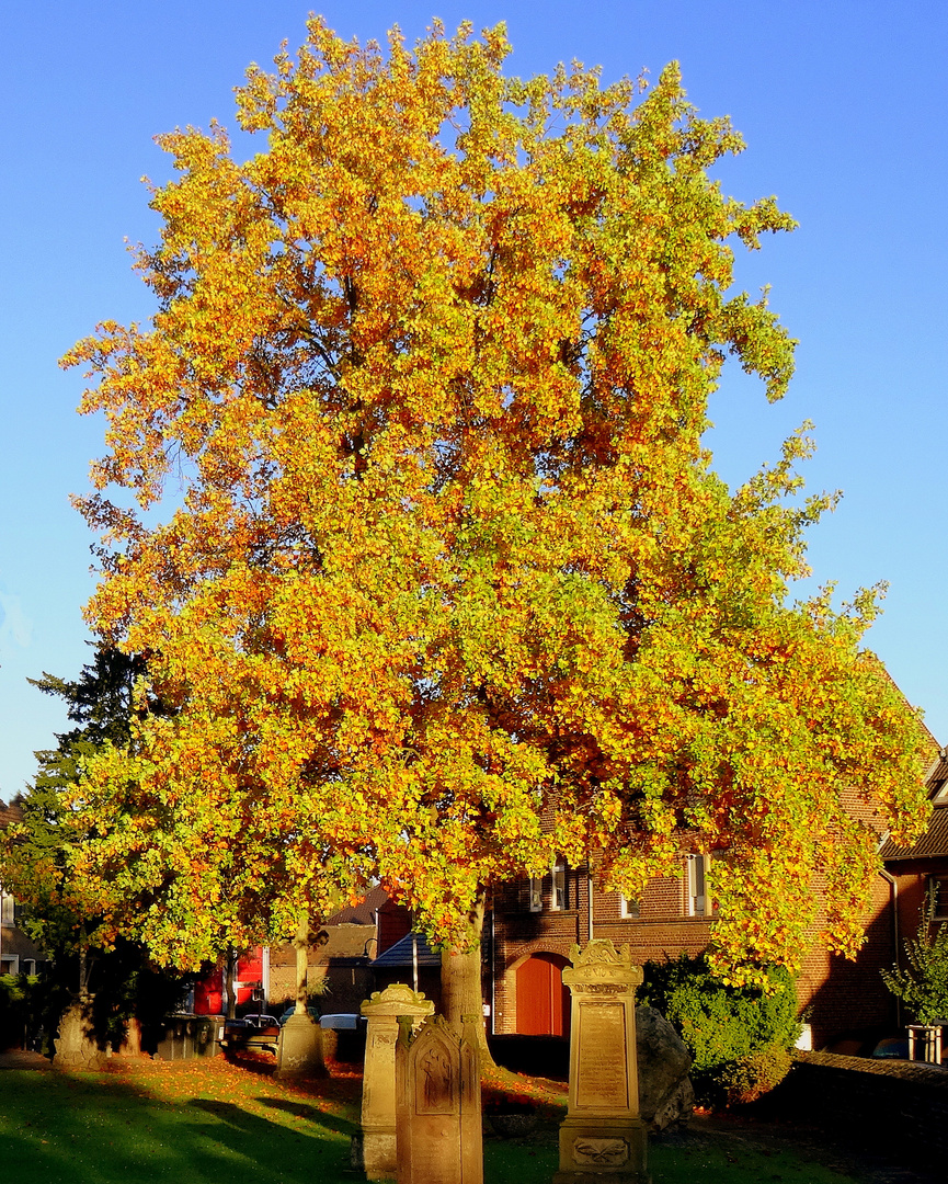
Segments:
[[[391,1179],[398,1170],[395,1153],[395,1043],[399,1017],[418,1028],[434,1004],[404,983],[375,991],[362,1004],[368,1019],[366,1068],[362,1076],[362,1135],[353,1145],[353,1166],[363,1167],[370,1180]]]

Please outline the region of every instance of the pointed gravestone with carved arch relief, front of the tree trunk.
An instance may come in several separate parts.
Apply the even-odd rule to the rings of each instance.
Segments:
[[[465,1023],[464,1028],[469,1028]],[[458,1032],[399,1021],[395,1045],[398,1184],[483,1184],[481,1066],[473,1021]]]

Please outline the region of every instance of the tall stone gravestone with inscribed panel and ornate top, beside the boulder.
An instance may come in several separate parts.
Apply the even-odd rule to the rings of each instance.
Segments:
[[[647,1184],[636,1064],[641,967],[632,965],[627,946],[620,953],[607,938],[582,952],[573,946],[572,961],[563,971],[573,996],[569,1108],[554,1184]]]

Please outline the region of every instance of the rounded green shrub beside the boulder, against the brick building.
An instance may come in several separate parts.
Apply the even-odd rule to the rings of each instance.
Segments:
[[[711,974],[703,954],[646,963],[639,1000],[681,1034],[692,1056],[699,1101],[721,1105],[760,1096],[789,1068],[789,1056],[779,1054],[800,1035],[797,989],[783,967],[769,967],[767,978],[766,991],[727,986]]]

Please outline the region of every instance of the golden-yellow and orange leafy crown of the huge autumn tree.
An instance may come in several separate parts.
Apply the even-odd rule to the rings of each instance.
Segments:
[[[852,952],[877,864],[841,797],[911,831],[918,723],[871,596],[788,599],[830,501],[793,501],[805,435],[734,493],[701,443],[727,355],[791,378],[731,281],[792,219],[709,178],[742,143],[673,65],[522,82],[502,27],[308,31],[237,92],[257,155],[160,139],[153,323],[65,359],[108,424],[89,622],[173,708],[89,762],[77,882],[188,964],[234,883],[247,934],[378,876],[460,946],[554,857],[636,896],[715,851],[720,970],[793,964],[818,871]]]

